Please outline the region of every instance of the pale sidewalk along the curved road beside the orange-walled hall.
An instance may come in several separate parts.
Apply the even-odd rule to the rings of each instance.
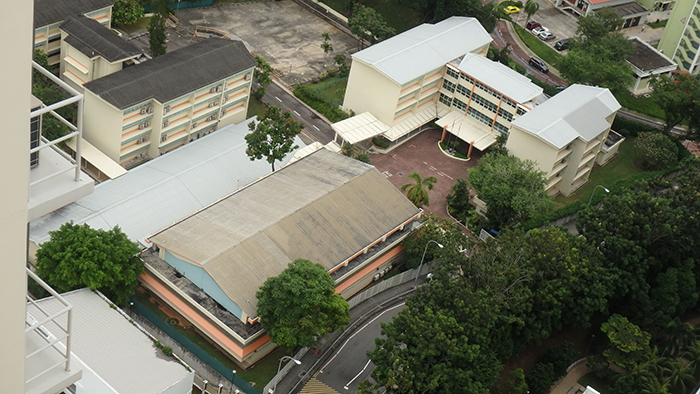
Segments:
[[[279,381],[277,393],[296,393],[301,390],[306,382],[306,379],[303,378],[311,377],[327,359],[333,356],[337,346],[340,346],[345,338],[352,335],[356,328],[360,327],[375,314],[406,299],[408,295],[413,293],[412,288],[413,281],[408,281],[389,288],[350,309],[350,324],[348,324],[345,331],[342,333],[334,332],[319,340],[317,349],[310,349],[301,358],[301,365],[292,368],[287,376]],[[320,355],[319,352],[321,353]]]

